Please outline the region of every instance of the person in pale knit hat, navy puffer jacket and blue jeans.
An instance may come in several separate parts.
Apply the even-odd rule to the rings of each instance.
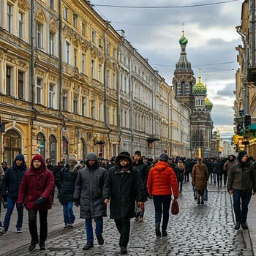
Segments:
[[[64,227],[74,227],[73,198],[75,181],[81,167],[78,159],[74,155],[70,155],[67,165],[59,173],[59,202],[63,208]]]

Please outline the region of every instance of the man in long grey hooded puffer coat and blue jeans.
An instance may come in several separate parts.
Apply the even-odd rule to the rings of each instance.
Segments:
[[[86,219],[87,244],[83,250],[94,247],[92,219],[96,224],[95,235],[99,245],[104,244],[103,217],[107,216],[107,207],[102,199],[102,190],[108,171],[99,167],[97,155],[94,152],[86,156],[86,167],[78,173],[75,183],[74,201],[80,204],[80,218]]]

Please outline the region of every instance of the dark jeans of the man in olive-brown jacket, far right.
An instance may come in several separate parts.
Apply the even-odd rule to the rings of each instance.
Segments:
[[[252,197],[252,191],[233,189],[233,207],[236,215],[236,222],[246,222],[248,205]]]

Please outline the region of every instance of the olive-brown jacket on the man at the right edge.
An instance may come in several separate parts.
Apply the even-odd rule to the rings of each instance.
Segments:
[[[241,189],[256,192],[256,173],[251,162],[242,165],[239,160],[230,167],[227,179],[227,191]]]

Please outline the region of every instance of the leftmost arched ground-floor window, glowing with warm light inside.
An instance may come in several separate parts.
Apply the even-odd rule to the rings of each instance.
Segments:
[[[4,161],[8,166],[12,166],[12,162],[17,154],[21,152],[21,137],[15,129],[10,129],[4,135]]]

